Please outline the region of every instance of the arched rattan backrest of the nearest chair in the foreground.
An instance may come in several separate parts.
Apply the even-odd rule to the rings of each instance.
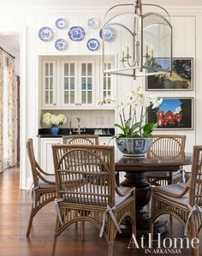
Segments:
[[[58,198],[82,205],[115,203],[113,146],[52,147]]]

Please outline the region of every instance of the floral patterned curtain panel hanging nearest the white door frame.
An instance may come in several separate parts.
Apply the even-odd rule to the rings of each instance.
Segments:
[[[8,134],[9,134],[9,158],[8,165],[16,164],[16,135],[17,135],[17,112],[16,112],[16,76],[15,60],[9,57],[9,90],[8,90]]]

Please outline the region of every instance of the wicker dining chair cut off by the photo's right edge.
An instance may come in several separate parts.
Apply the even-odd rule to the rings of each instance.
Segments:
[[[179,183],[153,189],[151,232],[153,223],[162,214],[176,217],[185,226],[185,235],[189,231],[191,238],[202,231],[202,146],[193,146],[191,178],[186,187]],[[199,256],[199,249],[193,249],[193,253]]]

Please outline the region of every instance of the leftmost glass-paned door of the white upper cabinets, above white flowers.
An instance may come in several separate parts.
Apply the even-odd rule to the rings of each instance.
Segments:
[[[42,107],[56,107],[56,62],[42,63]]]

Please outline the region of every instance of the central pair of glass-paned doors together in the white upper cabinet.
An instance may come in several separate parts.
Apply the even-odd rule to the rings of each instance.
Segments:
[[[62,107],[95,107],[95,77],[96,63],[94,60],[62,60]]]

